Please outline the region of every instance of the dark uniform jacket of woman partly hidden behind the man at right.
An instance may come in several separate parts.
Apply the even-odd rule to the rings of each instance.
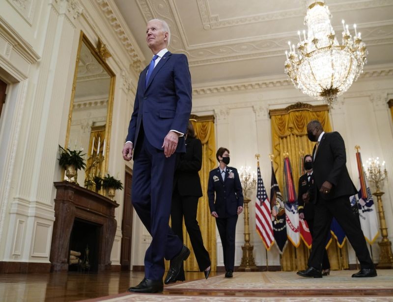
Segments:
[[[309,202],[304,203],[303,194],[309,192]],[[314,173],[311,174],[310,180],[308,174],[303,174],[299,177],[299,186],[298,186],[298,209],[299,213],[304,213],[306,220],[314,219],[314,204],[312,201],[314,200],[315,195],[315,185],[314,185]]]

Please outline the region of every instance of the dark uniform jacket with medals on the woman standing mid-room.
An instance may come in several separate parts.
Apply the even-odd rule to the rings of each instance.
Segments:
[[[216,198],[214,198],[216,193]],[[243,189],[237,170],[226,167],[225,181],[220,173],[220,168],[209,173],[207,185],[210,213],[217,212],[219,218],[237,215],[237,207],[243,206]]]

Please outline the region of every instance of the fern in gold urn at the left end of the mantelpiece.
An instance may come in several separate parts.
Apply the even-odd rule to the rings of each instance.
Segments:
[[[84,162],[84,155],[82,150],[70,150],[69,148],[64,149],[60,145],[60,157],[58,158],[58,164],[65,170],[65,175],[68,177],[67,181],[72,181],[71,178],[77,175],[78,170],[86,168]],[[76,182],[76,181],[74,181]]]

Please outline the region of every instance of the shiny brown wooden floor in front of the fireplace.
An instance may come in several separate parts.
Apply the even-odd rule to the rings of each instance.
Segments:
[[[212,272],[210,276],[216,274]],[[143,277],[143,272],[0,274],[0,301],[71,302],[99,298],[124,293]],[[187,280],[203,277],[203,273],[186,273]]]

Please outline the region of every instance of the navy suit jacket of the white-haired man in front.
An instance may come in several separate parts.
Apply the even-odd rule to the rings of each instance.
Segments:
[[[184,54],[163,55],[145,88],[147,67],[140,73],[134,112],[131,116],[126,141],[134,150],[140,139],[140,126],[149,143],[163,150],[164,138],[170,130],[186,133],[192,108],[191,75]],[[179,137],[176,152],[185,152],[184,136]]]

